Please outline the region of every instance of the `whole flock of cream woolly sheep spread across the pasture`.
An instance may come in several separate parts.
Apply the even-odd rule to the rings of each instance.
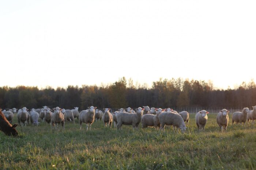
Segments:
[[[0,109],[1,110],[1,109]],[[52,128],[59,127],[60,124],[64,129],[65,122],[73,122],[75,123],[74,119],[79,119],[80,129],[82,129],[82,123],[86,124],[86,129],[91,129],[91,124],[93,124],[94,120],[97,122],[98,120],[102,120],[105,124],[105,127],[111,128],[112,122],[114,122],[114,127],[117,129],[121,129],[122,125],[132,125],[133,129],[138,129],[140,123],[142,123],[142,128],[146,127],[155,127],[159,128],[160,130],[164,130],[166,126],[173,126],[174,131],[177,128],[182,131],[182,133],[187,129],[185,122],[188,125],[189,122],[189,113],[187,111],[182,111],[178,113],[173,109],[167,108],[150,108],[148,106],[143,106],[136,108],[134,111],[132,108],[128,107],[127,109],[120,108],[118,111],[113,113],[110,112],[110,108],[103,108],[103,111],[98,110],[97,107],[91,106],[88,107],[87,110],[82,110],[80,113],[78,111],[78,107],[75,107],[72,110],[68,109],[61,109],[60,107],[55,107],[50,109],[47,106],[39,109],[31,109],[29,111],[26,107],[23,107],[18,110],[17,118],[18,123],[20,126],[26,126],[31,124],[38,126],[40,122],[39,119],[42,121],[49,123]],[[2,111],[2,110],[1,110]],[[52,112],[53,111],[53,112]],[[6,109],[2,111],[5,118],[10,123],[14,118],[14,114],[17,112],[16,108]],[[206,110],[202,110],[196,113],[195,120],[196,126],[199,131],[204,131],[204,127],[207,123],[207,112]],[[221,110],[217,115],[217,123],[220,127],[220,130],[226,131],[228,122],[229,122],[229,111],[226,109]],[[256,119],[256,106],[253,106],[253,110],[249,110],[249,108],[244,108],[242,112],[234,112],[232,116],[232,125],[236,123],[246,123],[246,120],[252,120],[252,125],[254,120]],[[8,122],[8,123],[9,123]],[[9,127],[13,127],[9,123]],[[2,123],[3,124],[3,123]],[[15,125],[16,127],[17,125]],[[1,128],[3,129],[3,127]],[[0,129],[0,130],[1,130]],[[3,131],[3,130],[2,130]]]

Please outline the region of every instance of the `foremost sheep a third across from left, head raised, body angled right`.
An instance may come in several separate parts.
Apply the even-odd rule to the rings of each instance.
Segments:
[[[79,114],[79,123],[80,130],[82,130],[82,123],[86,123],[86,130],[88,130],[88,126],[91,129],[91,124],[94,122],[95,109],[97,107],[88,107],[88,110],[83,110]]]

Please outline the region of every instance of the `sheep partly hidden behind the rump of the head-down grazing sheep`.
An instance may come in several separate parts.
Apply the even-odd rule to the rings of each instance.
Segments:
[[[151,115],[151,114],[145,114],[142,116],[142,128],[146,128],[146,127],[160,127],[160,122],[159,122],[159,114],[161,114],[163,111],[165,111],[162,108],[156,108],[155,109],[157,111],[156,115]]]

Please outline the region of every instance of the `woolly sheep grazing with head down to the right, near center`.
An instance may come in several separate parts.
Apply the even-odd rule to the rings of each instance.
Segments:
[[[164,130],[165,125],[177,127],[178,129],[181,129],[182,133],[184,133],[184,131],[186,131],[186,129],[187,129],[185,122],[182,119],[181,115],[179,115],[177,113],[163,112],[158,116],[158,118],[159,118],[159,122],[161,124],[160,130]]]

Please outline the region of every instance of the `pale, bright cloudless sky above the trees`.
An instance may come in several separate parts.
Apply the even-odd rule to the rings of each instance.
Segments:
[[[0,1],[0,86],[256,80],[255,0]]]

